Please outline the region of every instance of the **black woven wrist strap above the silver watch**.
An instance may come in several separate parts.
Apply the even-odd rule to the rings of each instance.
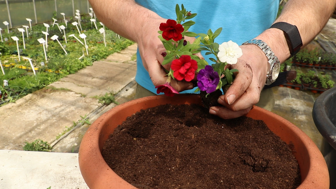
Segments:
[[[288,24],[286,22],[277,22],[273,24],[270,28],[278,28],[284,31],[291,56],[294,56],[297,52],[299,52],[300,47],[302,46],[302,40],[299,30],[296,26]]]

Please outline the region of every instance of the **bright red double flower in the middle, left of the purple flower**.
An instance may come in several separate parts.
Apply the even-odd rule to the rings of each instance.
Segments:
[[[189,55],[182,55],[179,59],[173,60],[170,67],[174,71],[174,77],[177,80],[191,81],[195,77],[197,62]]]

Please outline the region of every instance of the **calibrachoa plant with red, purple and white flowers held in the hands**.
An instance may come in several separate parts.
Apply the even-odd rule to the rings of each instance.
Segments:
[[[207,95],[231,85],[234,80],[234,72],[237,69],[226,68],[227,64],[236,64],[238,58],[243,54],[242,49],[235,42],[228,41],[218,44],[214,39],[220,34],[222,28],[215,32],[211,29],[206,34],[196,34],[188,31],[195,24],[190,19],[195,17],[196,13],[187,11],[183,4],[181,9],[176,4],[176,21],[168,19],[166,23],[160,24],[158,31],[159,38],[162,41],[166,51],[162,53],[164,61],[162,65],[171,63],[171,68],[167,70],[168,79],[164,85],[156,86],[157,93],[164,92],[167,96],[174,96],[178,91],[175,90],[170,82],[171,79],[192,81],[197,73],[197,91],[205,91]],[[190,20],[185,22],[186,20]],[[197,37],[193,43],[186,41],[185,36]],[[207,61],[200,59],[196,53],[206,51],[205,55],[212,54],[215,58],[209,58],[214,62],[211,66]]]

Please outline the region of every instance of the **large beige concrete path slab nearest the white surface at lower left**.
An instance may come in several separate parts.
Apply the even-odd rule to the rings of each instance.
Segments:
[[[72,91],[41,89],[1,107],[0,149],[23,150],[36,139],[51,143],[66,127],[99,106]]]

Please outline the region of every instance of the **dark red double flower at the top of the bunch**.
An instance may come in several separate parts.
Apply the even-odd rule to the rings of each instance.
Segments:
[[[165,40],[173,39],[178,41],[182,39],[182,32],[184,31],[181,24],[177,24],[176,21],[168,19],[166,23],[160,24],[160,30],[163,31],[162,37]]]

